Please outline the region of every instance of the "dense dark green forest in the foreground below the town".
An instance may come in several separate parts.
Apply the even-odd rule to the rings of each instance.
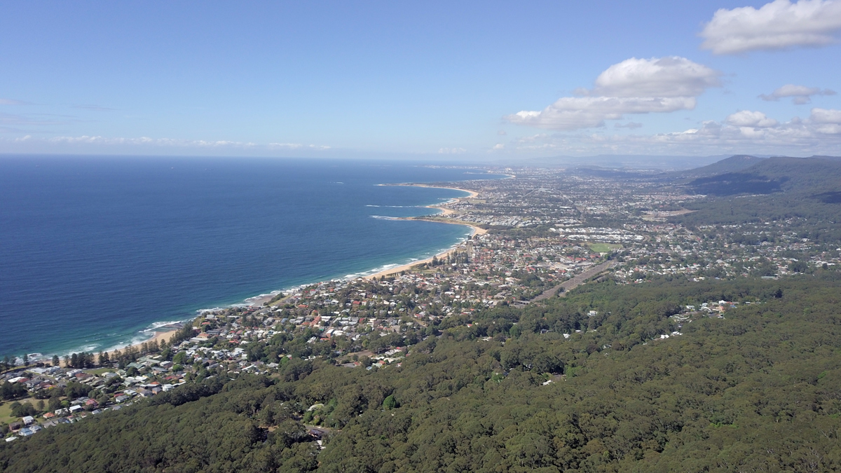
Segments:
[[[452,322],[399,367],[293,359],[273,378],[183,385],[0,445],[0,468],[839,470],[839,298],[833,272],[606,280]],[[740,304],[681,312],[707,300]]]

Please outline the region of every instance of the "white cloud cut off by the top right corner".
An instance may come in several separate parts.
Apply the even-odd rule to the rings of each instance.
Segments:
[[[775,0],[759,9],[719,9],[701,31],[701,48],[714,54],[739,54],[822,46],[833,43],[833,33],[838,29],[841,2],[837,0]]]

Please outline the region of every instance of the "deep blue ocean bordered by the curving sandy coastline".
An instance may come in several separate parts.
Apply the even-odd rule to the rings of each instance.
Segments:
[[[468,227],[377,217],[464,194],[376,184],[473,178],[405,162],[0,157],[0,356],[112,348],[201,308],[426,258]]]

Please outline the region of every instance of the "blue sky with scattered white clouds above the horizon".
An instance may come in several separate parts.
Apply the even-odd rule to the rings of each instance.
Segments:
[[[841,155],[839,32],[841,0],[6,3],[0,152]]]

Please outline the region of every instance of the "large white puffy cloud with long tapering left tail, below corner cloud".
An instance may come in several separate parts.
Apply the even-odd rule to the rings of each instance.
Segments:
[[[621,120],[625,114],[694,109],[696,97],[706,88],[717,87],[720,75],[684,57],[633,57],[608,67],[596,78],[593,90],[579,89],[583,97],[558,98],[546,109],[523,110],[505,120],[550,130],[578,130],[604,126],[605,120]]]

